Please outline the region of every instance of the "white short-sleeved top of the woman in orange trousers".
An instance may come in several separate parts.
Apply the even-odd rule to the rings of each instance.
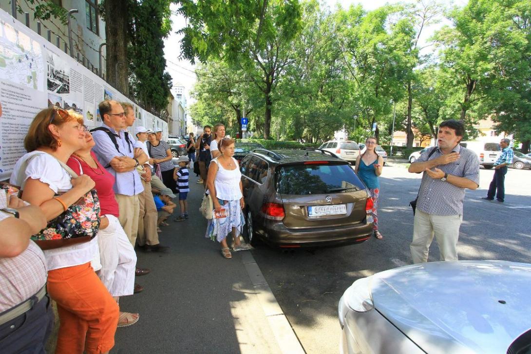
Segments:
[[[19,170],[23,161],[34,155],[37,156],[31,159],[24,172],[24,177],[20,178]],[[68,172],[61,167],[56,158],[42,151],[29,152],[17,161],[11,174],[10,183],[15,186],[21,186],[28,178],[38,179],[40,182],[46,183],[54,193],[66,192],[72,189],[71,177]],[[82,244],[44,251],[49,271],[85,264],[90,262],[97,254],[98,237]]]

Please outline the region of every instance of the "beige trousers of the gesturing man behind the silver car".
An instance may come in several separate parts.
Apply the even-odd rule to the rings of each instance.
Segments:
[[[428,261],[433,237],[437,240],[441,261],[457,261],[457,241],[463,215],[432,215],[416,211],[413,241],[409,245],[413,263]]]

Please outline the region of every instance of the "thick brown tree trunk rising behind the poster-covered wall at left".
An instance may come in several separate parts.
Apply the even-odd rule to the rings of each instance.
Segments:
[[[122,0],[105,1],[105,36],[107,41],[107,81],[118,91],[129,96],[127,67],[127,21],[129,6]]]

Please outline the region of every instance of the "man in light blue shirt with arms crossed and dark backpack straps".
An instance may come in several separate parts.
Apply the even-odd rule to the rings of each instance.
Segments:
[[[140,214],[139,194],[144,191],[136,166],[142,165],[148,157],[143,152],[135,155],[135,140],[125,130],[125,113],[119,102],[105,100],[98,108],[103,124],[92,129],[96,142],[92,151],[115,177],[113,188],[118,201],[118,220],[134,247]]]

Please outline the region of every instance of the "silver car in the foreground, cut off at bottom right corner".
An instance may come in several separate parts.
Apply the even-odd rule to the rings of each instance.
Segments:
[[[531,264],[430,262],[356,280],[339,300],[342,353],[531,350]]]

